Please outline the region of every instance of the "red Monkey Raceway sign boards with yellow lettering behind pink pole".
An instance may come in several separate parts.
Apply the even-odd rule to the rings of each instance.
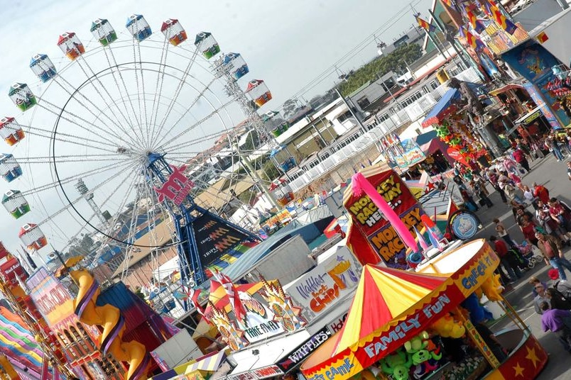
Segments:
[[[393,208],[408,230],[413,232],[413,228],[417,225],[420,225],[418,226],[420,230],[423,208],[396,172],[393,170],[379,172],[379,169],[371,168],[362,173]],[[401,269],[407,267],[406,246],[368,195],[355,195],[349,188],[345,193],[344,206],[352,217],[352,230],[349,233],[348,243],[359,259],[372,252],[372,256],[378,258],[377,262],[382,259],[388,267]],[[363,238],[352,237],[357,234]],[[369,244],[364,242],[365,239]],[[376,262],[370,263],[376,264]]]

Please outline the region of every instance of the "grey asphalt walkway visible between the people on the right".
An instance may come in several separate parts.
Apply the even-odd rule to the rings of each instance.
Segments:
[[[571,204],[571,181],[567,179],[567,160],[557,162],[555,157],[551,154],[543,159],[535,160],[531,162],[531,172],[526,174],[522,181],[523,184],[527,184],[528,186],[531,186],[533,182],[543,184],[550,191],[550,196],[555,196],[567,204]],[[490,235],[495,235],[492,220],[499,218],[504,221],[504,225],[508,228],[511,238],[514,238],[517,242],[523,241],[521,230],[513,219],[511,207],[502,203],[497,192],[492,193],[490,199],[494,202],[494,207],[491,209],[484,207],[477,211],[484,228],[476,235],[476,238],[488,239]],[[533,212],[531,206],[529,210]],[[567,259],[571,259],[570,248],[565,247],[563,252]],[[548,269],[550,269],[550,267],[543,263],[536,264],[535,268],[526,272],[523,279],[513,284],[513,290],[507,291],[504,296],[506,296],[506,299],[511,303],[513,308],[518,311],[523,321],[533,332],[533,335],[538,338],[541,345],[543,345],[545,350],[550,354],[548,365],[538,379],[571,379],[570,354],[562,349],[555,335],[552,333],[543,333],[540,326],[540,315],[536,314],[533,310],[533,296],[531,294],[531,285],[528,284],[528,279],[531,276],[536,276],[542,281],[548,282]],[[567,274],[567,276],[571,281],[571,274]],[[496,328],[493,328],[493,330],[511,324],[511,320],[502,318],[498,321]]]

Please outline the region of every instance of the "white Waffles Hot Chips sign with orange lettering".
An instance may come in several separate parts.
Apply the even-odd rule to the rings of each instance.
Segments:
[[[359,284],[361,264],[347,247],[337,250],[310,272],[288,284],[288,294],[303,307],[306,320],[330,313],[347,294]]]

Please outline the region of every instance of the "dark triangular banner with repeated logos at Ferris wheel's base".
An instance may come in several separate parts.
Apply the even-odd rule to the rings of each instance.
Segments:
[[[204,214],[192,222],[198,255],[203,267],[208,267],[225,252],[248,239],[244,233]]]

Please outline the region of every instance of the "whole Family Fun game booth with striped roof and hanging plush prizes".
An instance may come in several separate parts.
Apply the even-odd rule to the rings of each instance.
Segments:
[[[302,373],[309,380],[535,379],[547,353],[499,294],[498,265],[485,240],[443,252],[420,273],[366,265],[342,330],[302,364]],[[472,323],[482,322],[482,293],[501,301],[516,323],[498,334],[509,352],[502,362]],[[473,349],[448,361],[450,341],[464,335]]]

